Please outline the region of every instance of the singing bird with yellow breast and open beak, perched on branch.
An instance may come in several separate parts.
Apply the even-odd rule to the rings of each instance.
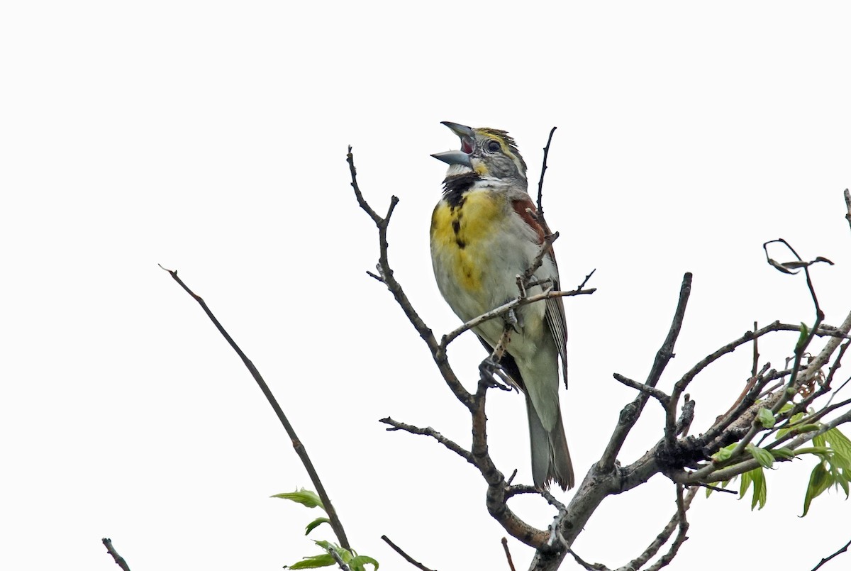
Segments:
[[[461,149],[432,155],[449,168],[443,197],[431,215],[431,264],[443,298],[466,322],[517,298],[517,276],[545,248],[545,231],[528,195],[526,163],[514,140],[494,128],[443,124],[460,137]],[[551,248],[534,271],[528,295],[545,288],[558,289]],[[559,376],[567,383],[562,299],[523,305],[511,317],[478,325],[474,331],[488,351],[499,343],[506,319],[513,331],[500,367],[526,396],[534,484],[544,488],[554,480],[562,489],[573,488],[558,403]]]

